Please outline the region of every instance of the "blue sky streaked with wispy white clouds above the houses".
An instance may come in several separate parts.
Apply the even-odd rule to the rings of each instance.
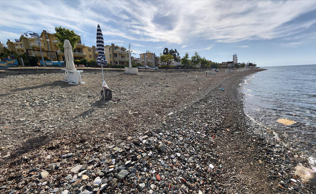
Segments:
[[[0,0],[0,41],[20,32],[55,26],[74,30],[96,45],[100,24],[105,44],[128,48],[139,57],[165,47],[180,56],[195,51],[215,62],[260,66],[316,64],[316,1],[17,1]]]

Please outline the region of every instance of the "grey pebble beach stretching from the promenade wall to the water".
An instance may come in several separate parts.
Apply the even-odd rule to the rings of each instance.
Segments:
[[[2,78],[0,193],[316,193],[244,113],[239,84],[263,70],[106,71],[106,102],[100,72]]]

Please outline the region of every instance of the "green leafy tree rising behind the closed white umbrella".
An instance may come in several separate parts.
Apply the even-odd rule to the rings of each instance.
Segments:
[[[72,50],[75,50],[76,43],[80,40],[80,37],[78,34],[76,34],[73,30],[69,30],[66,28],[63,28],[62,26],[55,27],[55,37],[58,40],[58,48],[60,51],[64,52],[64,41],[65,39],[69,40]]]

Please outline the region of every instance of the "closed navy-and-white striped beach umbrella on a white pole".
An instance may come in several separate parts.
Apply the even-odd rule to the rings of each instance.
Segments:
[[[100,25],[98,24],[98,28],[97,28],[97,51],[99,53],[99,56],[97,58],[97,63],[101,66],[102,68],[102,87],[103,88],[108,88],[105,80],[104,80],[104,73],[103,73],[103,65],[107,65],[107,61],[104,55],[104,42],[103,42],[103,35],[102,35],[102,31],[100,28]]]

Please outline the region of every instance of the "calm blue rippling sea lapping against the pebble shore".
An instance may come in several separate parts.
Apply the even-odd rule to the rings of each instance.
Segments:
[[[316,172],[316,65],[261,67],[240,84],[244,111]],[[291,126],[276,122],[284,118]]]

